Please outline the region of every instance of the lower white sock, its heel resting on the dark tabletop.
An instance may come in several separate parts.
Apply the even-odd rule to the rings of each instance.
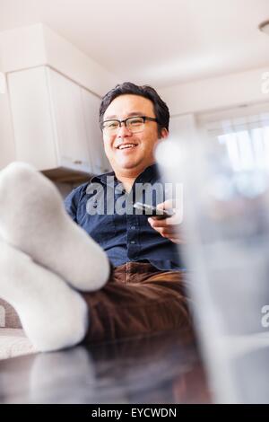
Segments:
[[[39,351],[71,347],[88,328],[82,295],[0,239],[0,296],[11,303]]]

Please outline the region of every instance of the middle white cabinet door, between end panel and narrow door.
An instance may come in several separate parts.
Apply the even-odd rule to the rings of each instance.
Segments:
[[[92,172],[79,85],[47,69],[56,119],[59,166]]]

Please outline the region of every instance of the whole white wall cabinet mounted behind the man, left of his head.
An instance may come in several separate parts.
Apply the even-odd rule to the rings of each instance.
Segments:
[[[40,171],[108,169],[98,124],[100,99],[48,66],[8,75],[16,160]]]

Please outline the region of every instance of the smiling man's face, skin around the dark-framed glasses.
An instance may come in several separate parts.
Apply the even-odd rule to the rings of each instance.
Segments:
[[[109,104],[103,120],[134,116],[156,118],[152,101],[134,94],[120,95]],[[162,136],[166,135],[166,129],[162,129]],[[139,173],[155,162],[153,150],[158,142],[158,125],[155,121],[145,120],[143,131],[133,134],[123,123],[116,134],[104,133],[103,140],[108,160],[116,173]],[[120,149],[118,146],[123,144],[135,146]]]

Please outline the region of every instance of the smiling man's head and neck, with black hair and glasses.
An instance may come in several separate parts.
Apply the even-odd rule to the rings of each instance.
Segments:
[[[107,100],[105,98],[100,110],[105,152],[117,179],[128,191],[136,177],[155,162],[154,148],[158,139],[168,136],[168,128],[161,125],[168,126],[169,119],[169,111],[161,103],[163,110],[159,119],[164,121],[159,124],[153,102],[141,94],[123,93],[112,100],[117,92],[141,92],[132,87],[132,84],[117,87],[113,94],[108,94]],[[156,95],[149,87],[143,91],[152,97]],[[103,112],[108,101],[111,102]]]

